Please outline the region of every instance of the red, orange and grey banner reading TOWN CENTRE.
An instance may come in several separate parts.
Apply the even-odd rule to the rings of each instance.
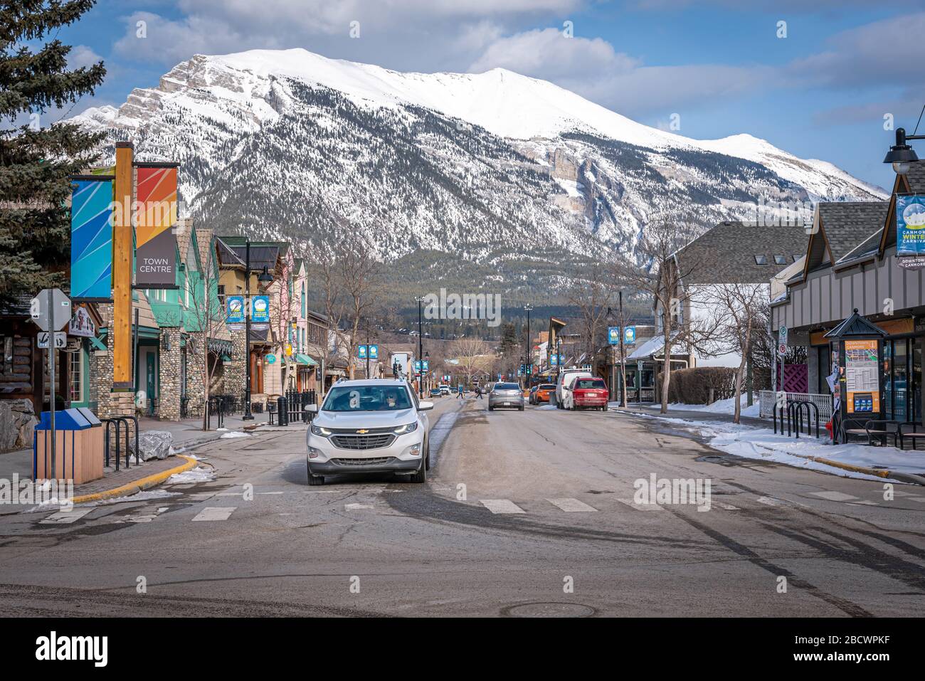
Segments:
[[[177,286],[177,164],[138,167],[135,213],[135,286]]]

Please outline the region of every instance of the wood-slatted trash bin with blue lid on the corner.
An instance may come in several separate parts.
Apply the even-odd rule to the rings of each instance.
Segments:
[[[32,479],[52,475],[52,415],[43,412],[32,443]],[[89,409],[63,409],[55,413],[56,477],[74,484],[103,477],[103,424]]]

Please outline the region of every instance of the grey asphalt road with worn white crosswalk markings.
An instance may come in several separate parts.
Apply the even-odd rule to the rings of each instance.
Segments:
[[[431,424],[425,485],[310,488],[304,431],[267,428],[200,450],[215,479],[158,492],[169,496],[79,507],[67,523],[0,517],[0,614],[918,616],[925,605],[921,488],[884,501],[879,482],[756,464],[613,412],[489,413],[443,398]],[[635,480],[652,474],[709,480],[709,511],[635,503]]]

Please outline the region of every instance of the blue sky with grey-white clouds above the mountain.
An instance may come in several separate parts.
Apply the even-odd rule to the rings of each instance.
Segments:
[[[99,0],[60,37],[75,64],[109,69],[71,113],[119,105],[196,53],[304,47],[399,70],[511,68],[648,125],[678,114],[688,137],[748,132],[889,188],[883,117],[916,125],[922,35],[925,0]]]

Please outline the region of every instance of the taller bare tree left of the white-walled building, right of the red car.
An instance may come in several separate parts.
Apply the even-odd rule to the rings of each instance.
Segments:
[[[693,292],[685,291],[689,280],[701,266],[691,259],[679,262],[678,250],[690,240],[692,229],[682,221],[655,223],[639,240],[637,252],[641,265],[629,263],[622,267],[623,280],[652,300],[664,337],[664,358],[661,377],[661,414],[668,412],[668,389],[672,377],[672,348],[677,345],[687,352],[698,350],[713,353],[712,339],[718,322],[715,319],[694,320],[685,315],[695,303]]]

